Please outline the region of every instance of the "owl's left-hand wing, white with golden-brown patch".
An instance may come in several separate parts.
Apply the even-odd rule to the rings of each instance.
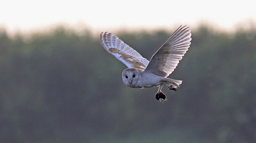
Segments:
[[[114,55],[128,68],[140,68],[144,70],[149,64],[149,61],[142,57],[140,53],[111,33],[101,32],[100,42],[110,54]]]

